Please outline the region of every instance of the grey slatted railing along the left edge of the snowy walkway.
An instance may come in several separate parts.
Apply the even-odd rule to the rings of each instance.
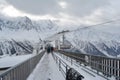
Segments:
[[[42,58],[43,54],[44,51],[22,62],[21,64],[11,67],[0,75],[0,80],[26,80]]]

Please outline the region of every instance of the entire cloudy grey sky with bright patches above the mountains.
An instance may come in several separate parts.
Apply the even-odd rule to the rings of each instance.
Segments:
[[[0,15],[96,24],[120,18],[120,0],[0,0]]]

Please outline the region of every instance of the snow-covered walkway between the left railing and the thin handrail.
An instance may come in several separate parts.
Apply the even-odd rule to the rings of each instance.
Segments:
[[[51,54],[45,53],[27,80],[65,80]]]

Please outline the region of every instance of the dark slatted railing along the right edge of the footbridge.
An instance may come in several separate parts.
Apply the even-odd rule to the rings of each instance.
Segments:
[[[66,51],[58,52],[70,57],[71,63],[73,63],[73,60],[76,60],[79,65],[84,64],[84,66],[90,66],[93,72],[107,78],[108,80],[112,76],[115,77],[116,80],[120,80],[120,59],[118,58],[94,56]]]

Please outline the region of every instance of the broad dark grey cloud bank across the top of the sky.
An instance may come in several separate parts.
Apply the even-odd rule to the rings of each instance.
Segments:
[[[108,0],[7,0],[15,8],[27,13],[55,15],[60,12],[74,16],[83,16],[92,13],[97,8],[109,5]],[[65,2],[66,8],[59,3]],[[63,5],[64,6],[64,5]]]

